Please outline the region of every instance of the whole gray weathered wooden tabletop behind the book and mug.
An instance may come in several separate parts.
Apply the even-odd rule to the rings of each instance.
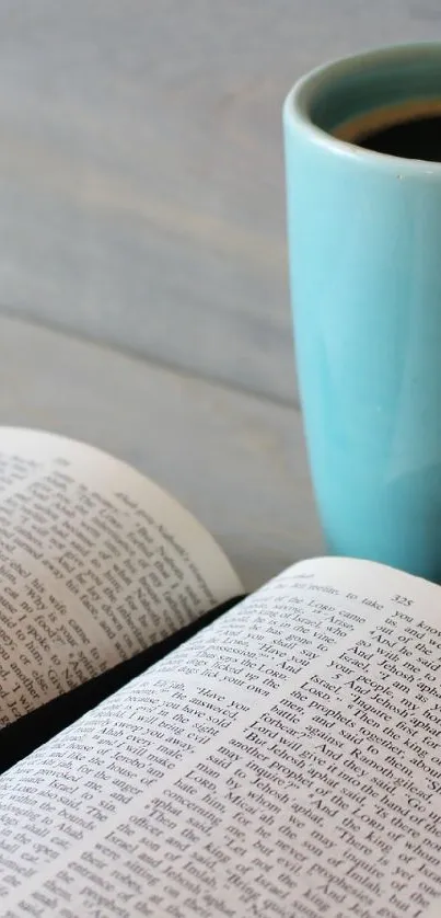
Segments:
[[[281,102],[330,57],[441,37],[439,4],[7,0],[0,35],[1,421],[139,466],[255,587],[321,549]]]

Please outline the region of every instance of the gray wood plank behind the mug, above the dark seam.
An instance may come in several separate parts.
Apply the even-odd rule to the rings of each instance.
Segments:
[[[436,0],[3,0],[0,306],[295,398],[280,106]]]

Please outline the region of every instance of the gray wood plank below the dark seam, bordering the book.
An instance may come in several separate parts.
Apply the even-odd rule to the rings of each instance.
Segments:
[[[210,529],[247,589],[321,550],[295,409],[0,317],[0,423],[131,462]]]

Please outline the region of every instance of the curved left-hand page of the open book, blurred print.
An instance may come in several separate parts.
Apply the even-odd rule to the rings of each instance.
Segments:
[[[240,592],[211,536],[141,474],[0,428],[0,726]]]

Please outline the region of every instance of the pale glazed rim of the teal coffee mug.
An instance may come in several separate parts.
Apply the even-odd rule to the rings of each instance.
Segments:
[[[320,127],[314,123],[310,111],[311,103],[316,97],[316,93],[329,77],[345,77],[346,74],[360,73],[362,68],[367,66],[371,67],[375,62],[383,64],[387,60],[396,59],[402,59],[405,62],[406,59],[413,60],[415,57],[421,57],[422,59],[425,56],[437,57],[441,66],[441,42],[410,42],[383,45],[322,64],[313,70],[310,70],[303,77],[300,77],[289,91],[283,103],[283,124],[287,127],[294,125],[307,136],[311,142],[327,148],[329,152],[347,157],[352,161],[359,161],[360,164],[364,161],[365,164],[369,163],[373,168],[387,171],[392,170],[395,174],[398,173],[397,177],[402,177],[404,172],[416,173],[420,177],[422,175],[427,177],[433,175],[439,176],[441,175],[441,162],[395,157],[391,153],[382,153],[365,147],[359,147],[348,140],[335,137],[325,128]]]

